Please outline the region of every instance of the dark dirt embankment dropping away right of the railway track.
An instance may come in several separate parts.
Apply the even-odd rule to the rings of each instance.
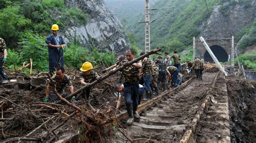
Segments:
[[[256,142],[256,81],[226,78],[232,142]]]

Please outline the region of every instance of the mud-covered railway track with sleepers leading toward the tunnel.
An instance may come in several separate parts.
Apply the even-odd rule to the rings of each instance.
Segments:
[[[139,105],[140,119],[119,129],[114,141],[189,142],[204,115],[218,73],[204,73],[203,81],[190,79],[180,87]],[[127,118],[127,113],[118,115]]]

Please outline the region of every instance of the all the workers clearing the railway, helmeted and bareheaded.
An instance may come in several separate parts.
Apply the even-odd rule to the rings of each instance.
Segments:
[[[44,98],[44,102],[55,102],[58,97],[53,92],[53,85],[56,85],[56,90],[58,94],[65,97],[64,88],[68,85],[71,94],[74,92],[74,88],[71,82],[71,79],[68,75],[65,74],[64,66],[64,51],[66,44],[63,38],[58,35],[59,27],[58,25],[52,25],[52,34],[50,34],[45,42],[48,44],[48,52],[49,52],[49,72],[52,75],[52,80],[49,82],[46,88],[46,94]],[[145,52],[140,53],[140,55],[144,55]],[[193,64],[189,61],[186,62],[186,66],[180,66],[180,57],[176,51],[173,52],[172,56],[169,56],[167,52],[164,53],[164,59],[161,56],[158,56],[156,59],[153,56],[153,60],[150,60],[149,57],[145,57],[144,59],[133,63],[131,66],[123,67],[121,70],[121,77],[118,81],[118,84],[114,85],[114,89],[119,92],[117,109],[120,106],[122,96],[125,98],[125,105],[127,113],[129,114],[129,119],[127,120],[127,124],[131,125],[133,123],[134,118],[140,118],[137,108],[138,104],[142,101],[143,94],[145,93],[145,98],[143,101],[147,101],[152,98],[152,95],[158,96],[158,85],[160,83],[163,85],[163,91],[166,90],[167,81],[171,82],[171,87],[177,87],[180,85],[182,81],[183,75],[181,74],[181,70],[187,70],[194,68],[195,73],[198,79],[202,79],[201,77],[201,67],[203,62],[201,62],[198,58],[195,58]],[[7,59],[7,52],[5,42],[2,38],[0,38],[0,72],[3,78],[2,83],[8,82],[8,78],[6,73],[3,70],[3,64]],[[114,69],[123,66],[125,62],[130,62],[135,59],[135,52],[132,48],[127,49],[125,51],[125,56],[120,55],[118,57],[118,61],[113,66],[102,70],[102,73],[108,72],[109,74],[113,73]],[[173,65],[172,61],[173,59]],[[99,80],[100,76],[93,70],[93,66],[90,62],[84,62],[82,67],[80,68],[80,84],[82,86],[86,86],[86,88],[82,92],[82,97],[85,99],[90,98],[91,87],[88,86],[89,83],[93,81]],[[55,75],[53,75],[55,73]]]

